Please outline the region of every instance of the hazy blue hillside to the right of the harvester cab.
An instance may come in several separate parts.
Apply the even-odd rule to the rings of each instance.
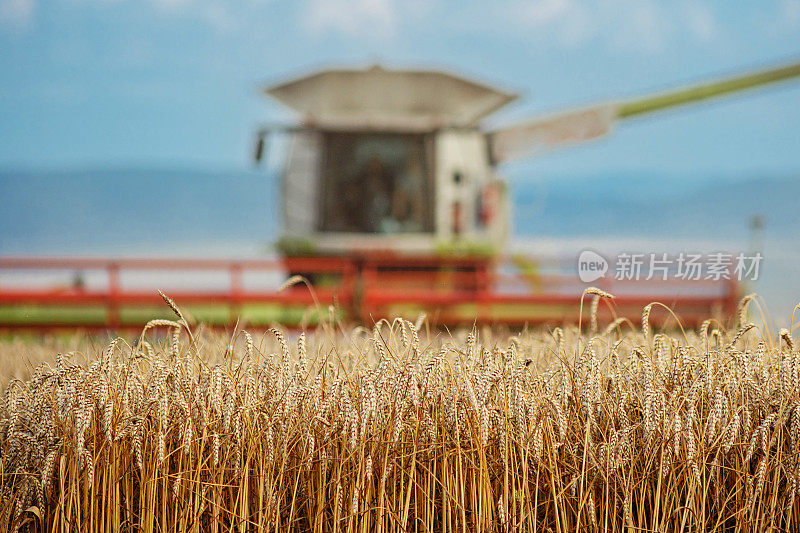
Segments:
[[[521,183],[514,192],[519,235],[730,240],[747,237],[754,214],[765,220],[767,237],[793,238],[800,232],[800,177],[692,181],[597,176]]]

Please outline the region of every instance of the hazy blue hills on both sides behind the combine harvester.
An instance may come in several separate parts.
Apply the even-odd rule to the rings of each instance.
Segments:
[[[517,180],[512,191],[520,237],[738,241],[754,213],[764,216],[768,239],[800,232],[800,178],[601,175]],[[276,180],[265,172],[0,172],[0,198],[1,253],[258,245],[278,227]]]

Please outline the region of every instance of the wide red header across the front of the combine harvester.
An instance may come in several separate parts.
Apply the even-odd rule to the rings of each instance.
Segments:
[[[159,312],[168,315],[156,289],[215,326],[240,319],[295,325],[309,309],[319,318],[330,306],[345,320],[365,323],[419,312],[441,324],[519,326],[577,319],[586,285],[575,274],[557,268],[509,271],[508,264],[497,258],[394,254],[239,260],[0,257],[0,327],[140,327]],[[313,293],[304,284],[278,292],[291,274],[309,278]],[[734,312],[739,298],[738,284],[730,280],[602,279],[595,284],[616,296],[617,315],[634,321],[642,307],[660,301],[684,323],[695,324]],[[600,312],[604,319],[612,316],[606,306]],[[654,321],[667,316],[661,315],[656,310]]]

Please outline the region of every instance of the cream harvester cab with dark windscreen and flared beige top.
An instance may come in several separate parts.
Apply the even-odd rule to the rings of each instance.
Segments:
[[[438,70],[324,70],[266,89],[302,120],[287,130],[286,251],[499,251],[504,183],[480,120],[516,95]],[[257,158],[263,154],[259,133]]]

